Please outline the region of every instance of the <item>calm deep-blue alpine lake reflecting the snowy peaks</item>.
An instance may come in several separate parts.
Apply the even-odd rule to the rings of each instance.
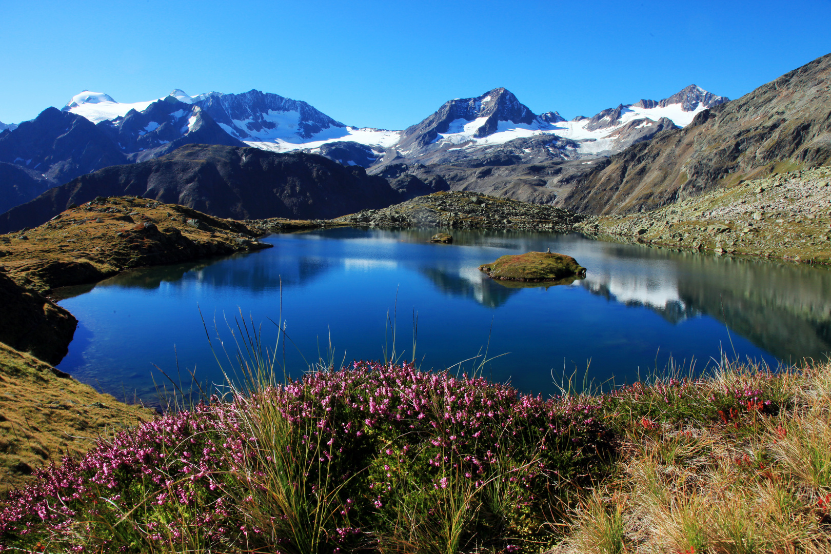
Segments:
[[[327,357],[380,359],[396,348],[422,368],[484,363],[484,375],[553,394],[553,377],[632,381],[670,356],[703,369],[720,349],[777,365],[831,350],[831,272],[602,243],[576,234],[455,231],[453,245],[421,231],[339,228],[273,235],[274,248],[127,272],[61,301],[80,321],[59,365],[118,398],[152,404],[156,383],[188,370],[222,383],[209,349],[240,314],[273,348],[282,316],[297,375]],[[507,253],[562,252],[588,268],[571,285],[505,287],[478,266]],[[200,314],[201,312],[201,314]],[[229,346],[231,344],[231,346]],[[283,360],[280,347],[279,359]],[[304,361],[305,360],[305,361]],[[467,361],[465,361],[467,360]],[[477,365],[482,358],[477,359]],[[225,360],[226,367],[229,367]],[[588,374],[587,374],[588,368]]]

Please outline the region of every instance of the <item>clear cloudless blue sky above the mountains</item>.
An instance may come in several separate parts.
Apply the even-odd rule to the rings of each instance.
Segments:
[[[831,0],[0,0],[0,121],[84,89],[254,88],[401,129],[497,86],[571,119],[691,83],[738,98],[829,52]]]

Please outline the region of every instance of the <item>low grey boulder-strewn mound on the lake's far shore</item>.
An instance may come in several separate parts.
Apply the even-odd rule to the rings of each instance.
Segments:
[[[563,208],[496,198],[470,192],[440,192],[407,200],[389,208],[361,210],[332,223],[374,227],[445,227],[573,230],[585,216]]]

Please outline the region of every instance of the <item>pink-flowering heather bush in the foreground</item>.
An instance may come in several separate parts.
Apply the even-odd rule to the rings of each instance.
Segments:
[[[77,552],[538,550],[607,471],[599,408],[356,362],[101,441],[12,493],[0,532]]]

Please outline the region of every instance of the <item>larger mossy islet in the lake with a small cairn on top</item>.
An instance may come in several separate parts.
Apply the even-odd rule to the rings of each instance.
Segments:
[[[586,274],[586,268],[573,257],[553,252],[507,255],[482,264],[479,270],[493,279],[526,282],[560,281]]]

